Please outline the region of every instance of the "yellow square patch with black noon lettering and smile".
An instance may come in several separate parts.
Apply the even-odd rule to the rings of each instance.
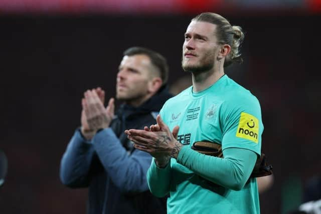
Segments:
[[[236,136],[258,143],[259,120],[251,114],[242,112]]]

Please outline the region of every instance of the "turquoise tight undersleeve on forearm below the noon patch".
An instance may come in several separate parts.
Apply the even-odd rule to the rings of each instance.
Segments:
[[[177,162],[207,180],[226,188],[240,190],[253,171],[257,155],[247,149],[227,148],[223,156],[224,158],[204,155],[184,146]]]

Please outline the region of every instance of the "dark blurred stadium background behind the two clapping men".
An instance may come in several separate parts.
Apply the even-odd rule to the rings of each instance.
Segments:
[[[246,32],[244,64],[227,73],[260,100],[262,151],[274,166],[261,213],[281,213],[284,186],[297,178],[285,193],[300,193],[321,168],[321,16],[221,15]],[[9,159],[0,213],[85,213],[87,190],[59,180],[60,159],[80,125],[82,93],[101,86],[114,96],[122,52],[131,46],[166,56],[174,84],[186,75],[180,62],[192,17],[0,17],[0,149]]]

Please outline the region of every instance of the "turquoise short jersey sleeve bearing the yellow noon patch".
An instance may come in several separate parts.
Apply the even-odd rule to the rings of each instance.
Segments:
[[[261,154],[263,123],[259,101],[252,94],[236,94],[222,106],[222,148],[244,148]]]

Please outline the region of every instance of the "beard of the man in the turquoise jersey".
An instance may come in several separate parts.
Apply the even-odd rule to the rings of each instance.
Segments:
[[[194,64],[189,64],[188,60],[184,59],[184,54],[182,57],[182,68],[186,72],[196,72],[202,73],[211,70],[214,67],[215,60],[214,60],[214,53],[208,53],[201,59],[199,59]]]

